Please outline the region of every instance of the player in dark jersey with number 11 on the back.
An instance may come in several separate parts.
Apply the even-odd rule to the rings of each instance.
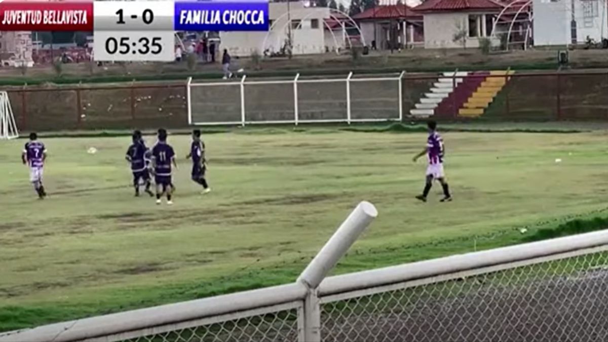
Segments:
[[[173,182],[171,181],[171,164],[177,169],[173,147],[167,144],[167,131],[158,130],[158,142],[152,148],[152,164],[154,166],[154,183],[156,183],[156,204],[161,204],[162,195],[167,194],[167,204],[173,204]],[[162,191],[161,191],[162,189]]]

